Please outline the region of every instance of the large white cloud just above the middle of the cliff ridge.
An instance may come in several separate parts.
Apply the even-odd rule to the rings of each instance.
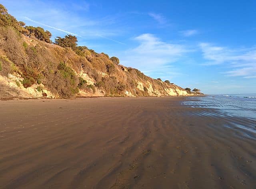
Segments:
[[[183,45],[163,42],[150,33],[139,35],[134,40],[139,45],[120,55],[121,63],[142,71],[161,70],[166,73],[170,71],[170,67],[166,67],[169,63],[174,63],[188,52]]]

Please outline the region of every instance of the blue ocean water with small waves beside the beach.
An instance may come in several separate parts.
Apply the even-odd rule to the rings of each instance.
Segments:
[[[256,121],[256,94],[195,96],[186,98],[182,104],[195,108],[214,108],[219,116]]]

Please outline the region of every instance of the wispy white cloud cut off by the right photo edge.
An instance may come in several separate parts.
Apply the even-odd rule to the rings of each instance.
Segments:
[[[202,56],[208,62],[204,65],[224,64],[230,71],[224,72],[230,77],[256,78],[256,47],[249,49],[229,49],[200,43]]]

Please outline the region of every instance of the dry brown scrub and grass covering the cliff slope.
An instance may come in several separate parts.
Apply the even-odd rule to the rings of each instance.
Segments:
[[[78,55],[79,54],[79,55]],[[134,96],[148,96],[148,82],[152,88],[164,91],[168,83],[152,79],[138,69],[116,65],[108,55],[82,48],[79,53],[70,47],[29,38],[12,27],[0,27],[1,75],[17,72],[24,78],[24,87],[42,83],[53,94],[61,98],[76,96],[78,88],[94,93],[104,90],[106,96],[124,96],[128,91]],[[63,63],[64,69],[58,65]],[[78,76],[83,71],[96,82],[94,85],[78,85]],[[104,75],[102,75],[104,74]],[[138,81],[144,83],[144,91],[137,88]]]

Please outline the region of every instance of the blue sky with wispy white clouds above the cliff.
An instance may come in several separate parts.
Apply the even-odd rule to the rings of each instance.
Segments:
[[[256,0],[0,0],[27,26],[206,94],[256,93]]]

